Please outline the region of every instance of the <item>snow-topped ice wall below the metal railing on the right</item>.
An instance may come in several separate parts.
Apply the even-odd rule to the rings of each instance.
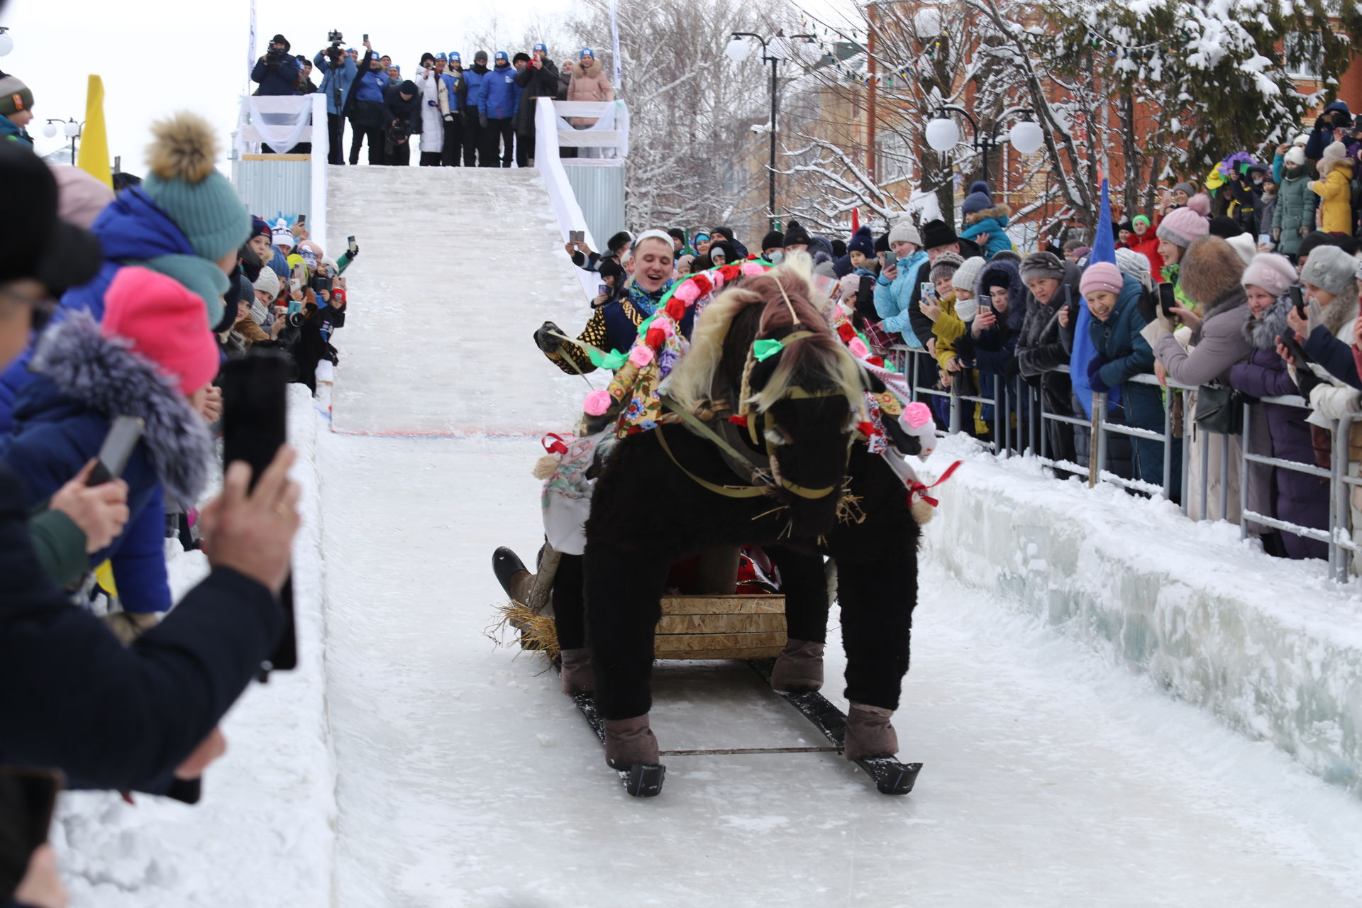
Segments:
[[[938,486],[930,557],[963,583],[1148,672],[1174,697],[1362,795],[1362,596],[1323,562],[1269,558],[1238,527],[1046,478],[966,438]]]

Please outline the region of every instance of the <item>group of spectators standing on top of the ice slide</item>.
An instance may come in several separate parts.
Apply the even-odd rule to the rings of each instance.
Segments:
[[[391,57],[373,49],[368,35],[362,50],[342,49],[340,35],[331,37],[331,44],[309,60],[306,54],[291,54],[291,44],[282,34],[274,35],[251,79],[259,86],[257,95],[326,95],[327,159],[334,165],[360,163],[360,151],[368,143],[370,165],[409,166],[415,140],[424,167],[509,167],[512,161],[527,167],[534,158],[535,98],[614,99],[614,88],[591,48],[561,64],[554,64],[542,42],[528,53],[497,50],[489,57],[486,50],[478,50],[469,68],[458,50],[422,53],[407,78]],[[313,68],[321,74],[320,86],[312,79]],[[343,154],[346,123],[349,157]],[[571,118],[579,129],[594,123],[590,117]],[[309,150],[306,143],[291,148]],[[290,150],[267,146],[267,151]],[[564,148],[561,154],[576,151]]]

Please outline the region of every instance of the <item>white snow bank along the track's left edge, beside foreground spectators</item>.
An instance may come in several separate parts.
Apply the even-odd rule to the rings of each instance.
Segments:
[[[298,670],[252,685],[227,715],[227,754],[208,768],[199,805],[63,796],[52,841],[72,908],[331,904],[335,769],[324,705],[319,418],[305,387],[289,392],[302,486],[293,550]],[[202,553],[184,553],[173,539],[166,551],[176,595],[207,574]]]

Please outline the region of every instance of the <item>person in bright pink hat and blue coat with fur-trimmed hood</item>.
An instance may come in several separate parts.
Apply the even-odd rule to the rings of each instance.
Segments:
[[[196,404],[218,372],[218,347],[203,299],[139,267],[118,271],[105,294],[102,325],[72,312],[41,336],[33,381],[15,400],[0,459],[41,501],[97,456],[116,417],[146,422],[123,472],[129,519],[91,555],[112,562],[125,623],[136,632],[170,609],[165,565],[165,496],[197,501],[212,437]]]

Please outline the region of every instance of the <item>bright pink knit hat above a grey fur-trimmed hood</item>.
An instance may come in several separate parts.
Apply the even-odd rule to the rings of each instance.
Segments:
[[[147,268],[121,268],[104,297],[105,338],[129,340],[132,353],[191,395],[218,373],[218,344],[203,301],[178,280]]]

